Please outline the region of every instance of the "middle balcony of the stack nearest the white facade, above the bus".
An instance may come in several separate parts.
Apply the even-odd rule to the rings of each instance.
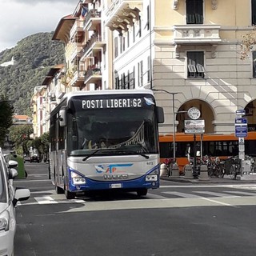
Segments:
[[[93,34],[91,38],[86,42],[85,46],[82,47],[80,52],[81,61],[90,55],[91,50],[94,50],[94,54],[97,54],[98,51],[102,50],[102,47],[106,45],[106,42],[102,42],[102,37]]]

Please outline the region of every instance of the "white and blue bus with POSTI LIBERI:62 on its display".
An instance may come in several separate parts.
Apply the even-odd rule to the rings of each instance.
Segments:
[[[77,91],[50,113],[50,179],[67,199],[89,191],[159,187],[158,123],[151,90]]]

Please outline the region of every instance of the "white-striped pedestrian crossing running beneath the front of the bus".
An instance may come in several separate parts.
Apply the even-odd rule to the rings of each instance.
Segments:
[[[49,191],[48,191],[49,192]],[[39,196],[40,195],[40,196]],[[223,190],[221,192],[217,192],[214,190],[192,190],[187,192],[181,192],[178,190],[149,190],[148,194],[142,198],[134,199],[134,195],[129,198],[115,198],[116,201],[118,200],[163,200],[163,199],[178,199],[178,198],[244,198],[244,197],[255,197],[256,200],[256,190]],[[27,201],[18,202],[19,206],[25,205],[49,205],[49,204],[62,204],[62,203],[79,203],[79,204],[86,204],[90,203],[92,200],[91,198],[75,198],[71,200],[67,200],[65,195],[59,194],[51,194],[51,195],[43,195],[41,191],[39,194],[31,194],[30,199]]]

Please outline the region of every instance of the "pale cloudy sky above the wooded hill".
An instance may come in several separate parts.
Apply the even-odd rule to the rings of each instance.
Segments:
[[[54,31],[78,0],[0,0],[0,52],[30,34]]]

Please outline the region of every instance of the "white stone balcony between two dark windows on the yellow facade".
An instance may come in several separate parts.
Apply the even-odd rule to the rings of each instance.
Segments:
[[[174,44],[210,44],[216,45],[222,42],[219,36],[221,26],[218,25],[175,25]]]

